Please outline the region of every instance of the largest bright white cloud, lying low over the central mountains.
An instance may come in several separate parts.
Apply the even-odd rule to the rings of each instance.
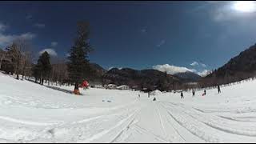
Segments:
[[[196,70],[194,69],[188,69],[186,67],[181,67],[181,66],[170,66],[169,64],[156,65],[156,66],[153,66],[153,69],[166,72],[167,74],[184,73],[186,71],[196,72]]]

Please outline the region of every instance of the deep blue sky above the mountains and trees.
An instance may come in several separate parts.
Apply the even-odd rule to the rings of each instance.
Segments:
[[[255,11],[235,2],[0,2],[0,46],[30,39],[65,57],[76,22],[90,22],[90,62],[198,74],[222,66],[256,38]],[[232,7],[233,6],[233,7]]]

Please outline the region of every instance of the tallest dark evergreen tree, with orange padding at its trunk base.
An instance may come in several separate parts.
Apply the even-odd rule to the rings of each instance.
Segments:
[[[79,84],[90,77],[91,68],[88,54],[92,50],[88,41],[90,30],[89,22],[78,22],[78,36],[74,39],[74,46],[70,50],[67,70],[70,83],[74,84],[74,93],[79,94]]]

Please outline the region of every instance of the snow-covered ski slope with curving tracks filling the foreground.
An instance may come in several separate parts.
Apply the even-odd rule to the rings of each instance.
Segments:
[[[147,94],[40,86],[0,73],[0,142],[256,142],[256,81]],[[138,94],[141,95],[138,98]],[[156,97],[157,101],[152,101]]]

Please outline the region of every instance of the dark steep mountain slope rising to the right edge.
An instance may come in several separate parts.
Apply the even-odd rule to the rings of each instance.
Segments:
[[[203,80],[205,83],[214,81],[212,85],[215,85],[216,83],[236,82],[254,76],[256,76],[256,44],[231,58],[224,66],[214,70]]]

